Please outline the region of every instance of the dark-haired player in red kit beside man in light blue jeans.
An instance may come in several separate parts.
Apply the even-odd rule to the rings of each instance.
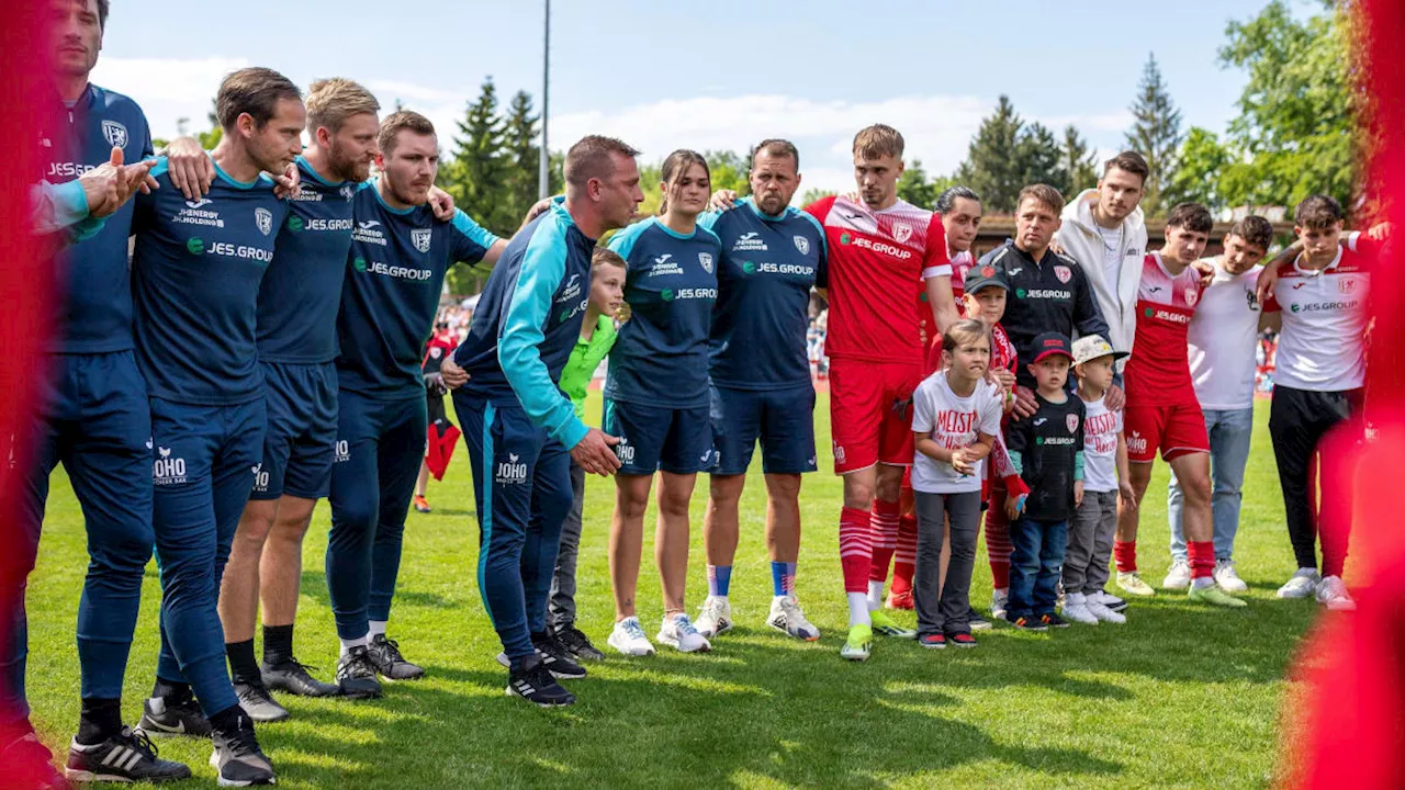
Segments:
[[[1214,606],[1246,606],[1215,586],[1214,519],[1210,509],[1210,439],[1196,398],[1187,356],[1187,330],[1200,304],[1200,271],[1193,266],[1205,250],[1214,219],[1197,202],[1183,202],[1166,216],[1166,245],[1142,260],[1137,294],[1137,337],[1127,361],[1124,432],[1132,493],[1138,507],[1118,506],[1118,585],[1134,595],[1145,582],[1124,572],[1128,545],[1135,545],[1141,500],[1151,482],[1156,453],[1170,464],[1183,496],[1182,523],[1190,555],[1190,600]],[[1141,583],[1138,583],[1141,582]]]

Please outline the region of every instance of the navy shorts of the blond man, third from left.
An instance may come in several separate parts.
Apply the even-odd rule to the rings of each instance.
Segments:
[[[263,363],[268,430],[249,499],[322,499],[337,444],[337,365]]]

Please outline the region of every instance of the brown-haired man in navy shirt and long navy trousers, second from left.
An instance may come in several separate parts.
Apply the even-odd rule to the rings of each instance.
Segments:
[[[209,194],[183,200],[157,164],[163,188],[138,198],[133,219],[163,593],[162,655],[140,727],[212,734],[221,783],[271,784],[273,765],[225,669],[216,590],[263,453],[259,283],[288,207],[261,173],[281,173],[302,150],[306,112],[296,86],[260,67],[225,77],[215,111],[223,138]]]

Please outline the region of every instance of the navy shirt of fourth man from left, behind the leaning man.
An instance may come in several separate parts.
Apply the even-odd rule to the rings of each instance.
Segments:
[[[357,193],[351,271],[337,316],[337,385],[381,399],[424,396],[420,360],[444,274],[478,263],[497,236],[462,211],[440,222],[429,205],[391,208],[371,183]]]

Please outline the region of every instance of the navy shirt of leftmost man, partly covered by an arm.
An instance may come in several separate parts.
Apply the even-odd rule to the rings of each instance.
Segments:
[[[119,93],[90,84],[72,108],[60,105],[55,117],[59,128],[39,136],[48,157],[44,180],[51,184],[72,181],[103,164],[114,146],[122,149],[128,163],[152,155],[146,115]],[[94,236],[65,250],[67,287],[55,350],[101,354],[132,349],[132,285],[126,267],[132,211],[129,201]]]

